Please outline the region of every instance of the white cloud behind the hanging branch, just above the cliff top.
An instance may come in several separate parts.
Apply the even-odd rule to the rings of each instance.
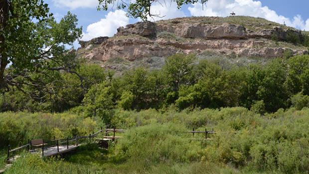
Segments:
[[[151,6],[151,13],[153,15],[157,15],[157,16],[148,17],[148,20],[151,20],[151,21],[171,19],[171,18],[185,16],[184,12],[181,11],[181,9],[177,9],[177,4],[174,1],[168,1],[168,0],[167,1],[161,0],[161,1],[155,2]]]

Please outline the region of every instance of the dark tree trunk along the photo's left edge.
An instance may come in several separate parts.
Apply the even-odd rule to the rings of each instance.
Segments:
[[[6,87],[4,70],[8,64],[7,55],[5,53],[5,37],[4,29],[7,25],[8,20],[8,0],[0,0],[0,89]]]

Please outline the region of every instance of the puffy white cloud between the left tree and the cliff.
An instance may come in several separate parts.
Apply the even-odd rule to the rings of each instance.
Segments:
[[[90,40],[99,36],[113,36],[120,26],[129,24],[129,18],[123,10],[110,11],[105,18],[88,25],[87,32],[83,33],[82,40]]]

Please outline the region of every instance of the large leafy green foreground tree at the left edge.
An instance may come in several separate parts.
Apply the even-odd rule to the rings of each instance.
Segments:
[[[43,0],[0,0],[0,92],[19,89],[41,97],[41,91],[56,87],[46,80],[55,71],[78,75],[75,55],[67,48],[81,34],[75,15],[68,12],[56,22]]]

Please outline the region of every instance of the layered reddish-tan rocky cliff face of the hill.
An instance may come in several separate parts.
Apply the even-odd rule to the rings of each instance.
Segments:
[[[97,61],[163,58],[175,53],[198,55],[205,51],[238,58],[276,58],[287,50],[294,55],[307,54],[307,48],[287,42],[291,37],[303,39],[301,31],[261,18],[189,17],[120,27],[114,37],[82,41],[77,53]]]

